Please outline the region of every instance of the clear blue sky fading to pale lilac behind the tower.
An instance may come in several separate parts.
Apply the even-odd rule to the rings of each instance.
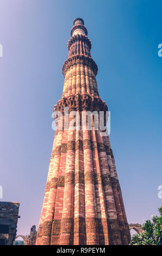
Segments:
[[[20,202],[17,234],[38,228],[61,98],[66,43],[85,21],[98,65],[99,94],[111,111],[111,144],[129,223],[157,214],[162,199],[162,2],[1,0],[0,185]]]

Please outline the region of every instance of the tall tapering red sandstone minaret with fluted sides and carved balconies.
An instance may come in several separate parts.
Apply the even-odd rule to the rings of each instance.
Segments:
[[[108,111],[98,94],[97,65],[80,18],[74,20],[62,99],[54,111]],[[63,116],[65,121],[65,116]],[[70,120],[70,119],[69,119]],[[128,245],[130,232],[113,151],[102,131],[55,131],[37,245]]]

